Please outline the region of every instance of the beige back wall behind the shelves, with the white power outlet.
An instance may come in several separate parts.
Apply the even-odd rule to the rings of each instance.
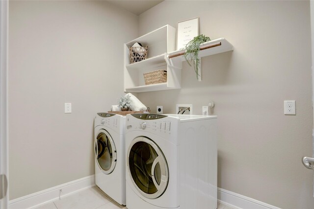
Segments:
[[[200,34],[235,50],[202,59],[203,81],[183,62],[182,88],[138,98],[163,105],[214,101],[218,186],[281,208],[313,208],[311,27],[309,1],[163,1],[139,16],[139,35],[199,17]],[[297,114],[285,116],[284,100]]]

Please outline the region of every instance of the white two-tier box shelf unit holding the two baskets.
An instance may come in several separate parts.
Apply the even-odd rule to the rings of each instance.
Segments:
[[[145,60],[131,63],[130,47],[135,43],[148,46]],[[126,92],[147,92],[181,88],[181,68],[167,65],[168,52],[176,49],[176,28],[166,25],[124,44],[124,89]],[[176,63],[176,62],[175,62]],[[144,74],[166,70],[167,81],[145,85]]]

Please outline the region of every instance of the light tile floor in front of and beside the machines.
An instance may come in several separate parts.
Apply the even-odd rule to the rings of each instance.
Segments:
[[[127,209],[108,197],[98,186],[47,203],[36,209]],[[217,209],[233,209],[218,203]]]

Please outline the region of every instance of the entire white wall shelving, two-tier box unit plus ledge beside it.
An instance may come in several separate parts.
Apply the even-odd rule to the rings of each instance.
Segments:
[[[147,59],[130,63],[129,47],[135,42],[148,46]],[[166,25],[125,44],[124,55],[124,91],[148,92],[181,88],[182,61],[185,50],[176,48],[176,29]],[[199,56],[232,51],[234,48],[225,38],[215,39],[201,44]],[[144,73],[154,70],[167,70],[167,82],[145,85]],[[201,73],[201,65],[199,74]]]

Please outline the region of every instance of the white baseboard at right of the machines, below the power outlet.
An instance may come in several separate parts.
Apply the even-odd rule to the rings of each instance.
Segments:
[[[280,209],[222,188],[217,188],[217,198],[218,202],[235,209]]]

